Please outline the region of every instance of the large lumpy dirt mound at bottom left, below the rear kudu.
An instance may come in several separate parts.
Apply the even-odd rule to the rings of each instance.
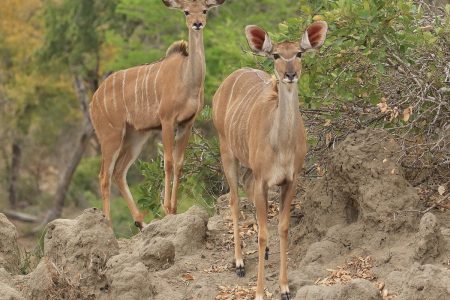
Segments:
[[[118,253],[98,209],[87,209],[75,220],[55,220],[47,225],[44,257],[27,275],[23,293],[30,299],[95,299],[107,284],[106,262]]]

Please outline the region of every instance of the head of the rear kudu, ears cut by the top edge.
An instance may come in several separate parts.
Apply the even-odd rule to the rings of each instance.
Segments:
[[[225,0],[163,0],[169,8],[180,9],[186,16],[188,28],[199,31],[206,25],[206,14],[211,7],[221,5]]]

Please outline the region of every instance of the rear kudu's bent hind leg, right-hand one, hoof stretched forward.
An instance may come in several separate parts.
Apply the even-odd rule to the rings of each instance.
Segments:
[[[135,225],[142,229],[144,227],[144,214],[136,206],[127,183],[127,173],[130,166],[136,161],[141,153],[142,147],[149,137],[148,133],[128,132],[124,141],[116,167],[114,168],[114,180],[119,188],[120,194],[127,202],[127,206],[133,216]]]

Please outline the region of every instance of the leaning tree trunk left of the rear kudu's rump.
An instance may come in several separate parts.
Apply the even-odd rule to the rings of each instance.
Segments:
[[[86,85],[82,78],[78,75],[74,76],[74,88],[83,112],[82,133],[74,145],[73,153],[66,164],[66,168],[61,174],[53,201],[53,207],[43,221],[42,225],[61,217],[61,213],[64,208],[64,200],[72,181],[73,174],[80,164],[86,147],[93,135],[93,127],[89,117],[89,91],[86,89]]]

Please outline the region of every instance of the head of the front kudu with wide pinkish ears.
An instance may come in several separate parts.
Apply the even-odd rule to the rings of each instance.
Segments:
[[[300,42],[285,41],[279,44],[272,43],[267,32],[255,25],[248,25],[245,35],[253,53],[274,60],[278,80],[292,84],[298,81],[301,74],[302,53],[320,48],[325,41],[327,30],[327,23],[318,21],[308,26]]]

